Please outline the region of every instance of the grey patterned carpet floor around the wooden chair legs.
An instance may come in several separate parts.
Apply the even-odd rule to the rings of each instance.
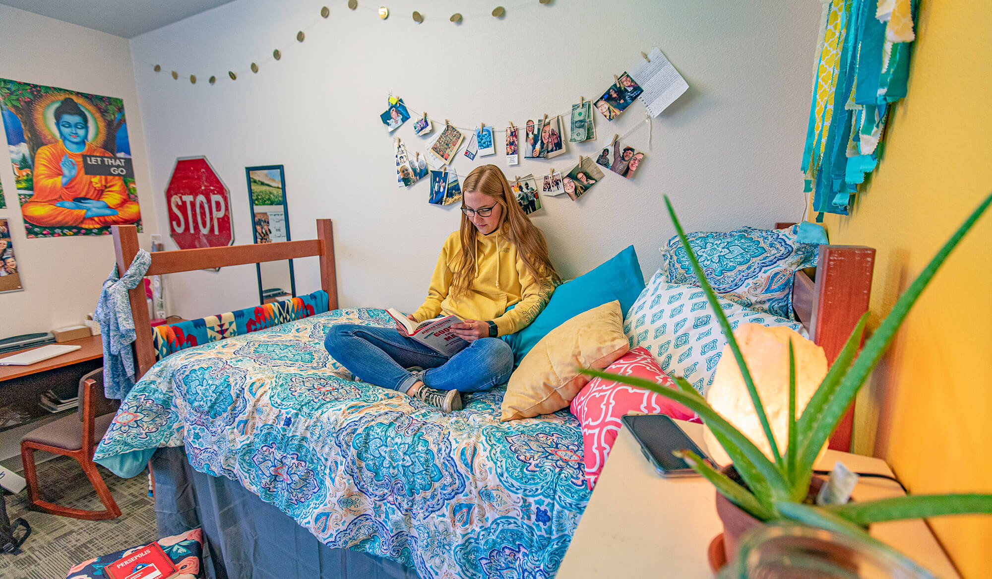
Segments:
[[[155,502],[148,496],[147,471],[121,479],[101,466],[100,476],[110,488],[121,516],[113,521],[80,521],[28,510],[28,491],[7,496],[11,520],[24,518],[31,536],[21,553],[0,553],[0,579],[63,579],[69,567],[87,559],[150,543],[158,538]],[[86,510],[102,510],[79,463],[58,457],[38,465],[45,501]]]

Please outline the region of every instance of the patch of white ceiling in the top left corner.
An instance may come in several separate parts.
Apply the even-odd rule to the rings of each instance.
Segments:
[[[0,4],[126,39],[231,0],[0,0]]]

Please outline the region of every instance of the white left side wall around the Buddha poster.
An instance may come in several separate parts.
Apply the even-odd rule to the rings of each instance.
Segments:
[[[145,230],[139,237],[147,247],[158,221],[128,41],[7,6],[0,6],[0,39],[0,78],[124,99]],[[0,218],[10,222],[25,288],[0,293],[0,338],[81,323],[113,268],[113,240],[109,235],[25,239],[7,140],[0,142],[0,180],[7,198]]]

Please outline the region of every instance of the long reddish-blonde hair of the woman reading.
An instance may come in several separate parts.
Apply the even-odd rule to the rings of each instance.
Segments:
[[[517,248],[527,270],[538,280],[547,280],[558,285],[561,278],[558,277],[558,272],[555,271],[555,266],[548,256],[545,234],[531,223],[531,219],[520,208],[517,197],[514,196],[510,183],[500,168],[495,165],[475,168],[462,181],[461,190],[465,193],[476,191],[489,195],[503,207],[503,220],[499,227],[502,227],[503,223],[508,225],[507,237]],[[461,255],[451,280],[451,294],[454,296],[467,294],[475,279],[476,231],[478,230],[475,225],[462,213],[461,227],[458,231],[461,238]]]

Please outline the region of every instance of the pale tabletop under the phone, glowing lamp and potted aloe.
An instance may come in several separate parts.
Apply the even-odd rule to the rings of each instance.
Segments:
[[[706,448],[701,424],[679,421],[679,425],[700,448]],[[852,471],[892,475],[881,459],[834,450],[826,451],[816,468],[829,470],[837,460]],[[624,426],[561,561],[558,579],[712,577],[706,547],[723,530],[714,493],[701,477],[660,477]],[[869,501],[901,495],[895,482],[862,479],[853,497]],[[924,521],[876,523],[871,534],[938,577],[958,577]]]

